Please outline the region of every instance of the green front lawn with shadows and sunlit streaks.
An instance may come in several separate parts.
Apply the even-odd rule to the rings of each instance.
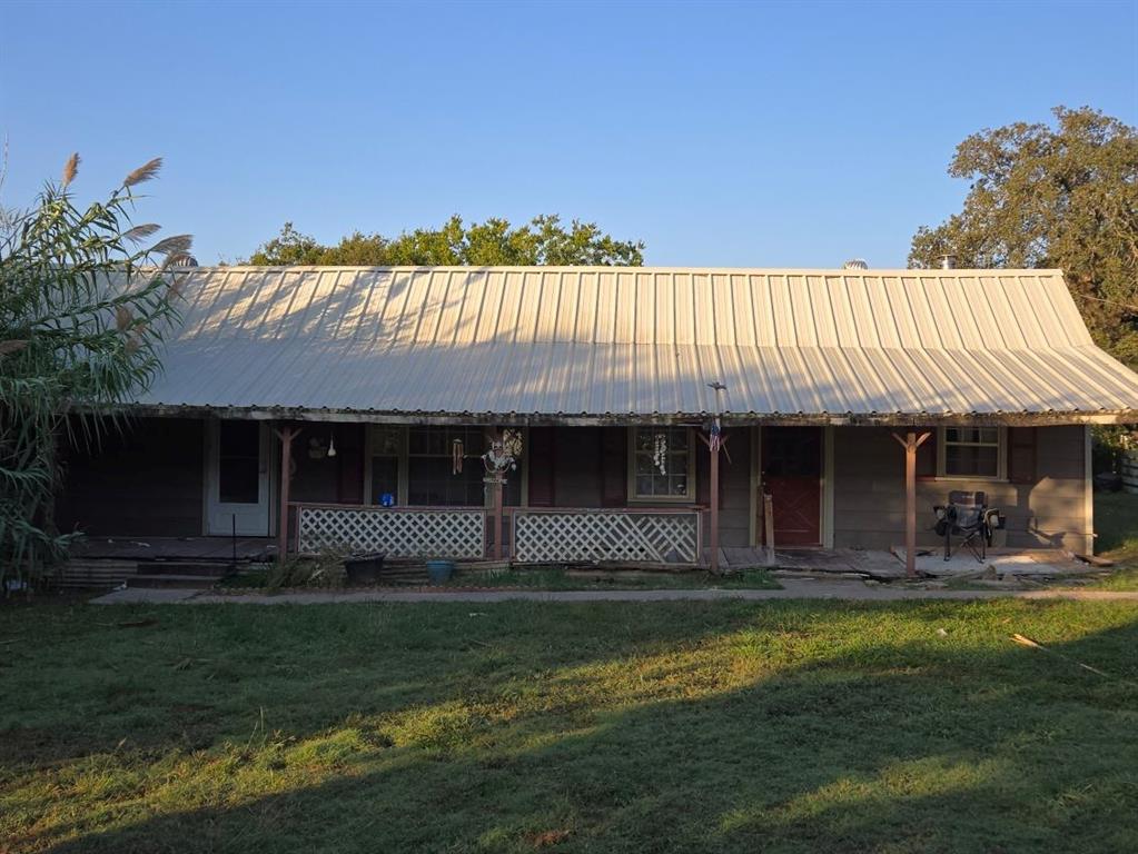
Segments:
[[[0,849],[1138,851],[1135,649],[1129,603],[7,607]]]

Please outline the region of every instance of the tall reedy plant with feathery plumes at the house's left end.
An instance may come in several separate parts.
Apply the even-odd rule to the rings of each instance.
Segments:
[[[60,438],[98,441],[101,416],[113,423],[116,404],[160,368],[163,332],[176,320],[170,266],[190,239],[139,249],[158,226],[130,216],[133,188],[160,166],[134,169],[106,201],[80,209],[73,155],[63,180],[0,233],[0,581],[34,579],[77,536],[51,523]]]

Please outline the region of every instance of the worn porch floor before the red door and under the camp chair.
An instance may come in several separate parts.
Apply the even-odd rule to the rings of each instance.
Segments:
[[[729,570],[765,567],[766,552],[761,548],[720,548],[720,564]],[[945,561],[940,548],[921,548],[917,552],[917,572],[924,575],[979,575],[995,571],[999,575],[1077,575],[1100,571],[1077,561],[1065,552],[1052,548],[1016,549],[990,548],[984,562],[967,552],[958,552]],[[879,581],[905,578],[905,548],[894,546],[889,552],[855,548],[790,548],[775,549],[773,569],[798,572],[856,574]]]

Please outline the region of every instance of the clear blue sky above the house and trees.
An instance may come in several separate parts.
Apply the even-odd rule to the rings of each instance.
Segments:
[[[1059,103],[1138,124],[1138,2],[0,3],[0,202],[160,155],[140,217],[204,264],[559,213],[650,264],[904,266],[956,143]]]

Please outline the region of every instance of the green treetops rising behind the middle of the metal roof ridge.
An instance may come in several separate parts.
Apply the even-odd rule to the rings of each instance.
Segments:
[[[439,229],[417,229],[397,238],[354,232],[336,246],[322,246],[292,223],[263,243],[247,262],[258,266],[546,266],[626,265],[644,263],[644,243],[616,240],[595,223],[574,219],[569,227],[555,215],[525,225],[490,218],[467,226],[452,216]]]

